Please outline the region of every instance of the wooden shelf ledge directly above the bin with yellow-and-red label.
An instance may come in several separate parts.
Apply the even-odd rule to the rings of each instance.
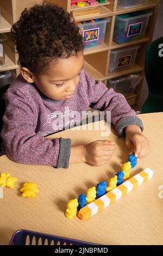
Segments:
[[[82,15],[82,16],[77,16],[74,19],[77,22],[77,21],[83,21],[83,20],[91,20],[93,18],[95,19],[95,16],[96,16],[96,19],[108,17],[108,16],[112,16],[112,14],[113,13],[111,10],[102,6],[102,7],[100,7],[100,14]]]

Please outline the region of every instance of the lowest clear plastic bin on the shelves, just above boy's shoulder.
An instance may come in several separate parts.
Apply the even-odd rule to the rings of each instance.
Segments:
[[[136,87],[143,79],[139,73],[108,80],[107,87],[113,88],[117,93],[134,93]]]

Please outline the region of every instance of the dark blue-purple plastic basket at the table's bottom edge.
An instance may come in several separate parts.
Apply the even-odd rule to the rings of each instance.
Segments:
[[[12,235],[9,245],[95,245],[61,236],[47,235],[29,230],[18,230]]]

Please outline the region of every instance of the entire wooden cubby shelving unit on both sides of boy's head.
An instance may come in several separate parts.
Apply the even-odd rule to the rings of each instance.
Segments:
[[[82,0],[81,0],[82,1]],[[71,0],[47,0],[54,4],[60,5],[66,11],[70,12],[74,10],[71,7]],[[100,8],[100,13],[95,15],[83,15],[75,17],[75,21],[83,21],[90,19],[97,19],[102,17],[109,17],[110,22],[106,25],[106,33],[104,44],[101,46],[96,46],[92,48],[87,48],[84,50],[84,68],[89,73],[90,76],[96,80],[101,80],[107,83],[108,79],[133,74],[135,72],[140,72],[141,76],[144,75],[144,63],[145,63],[145,53],[149,42],[152,41],[156,15],[159,8],[160,0],[148,0],[147,3],[140,5],[138,7],[130,9],[120,9],[117,8],[118,0],[106,0],[104,4],[98,4]],[[5,43],[6,52],[6,63],[0,67],[0,71],[18,69],[17,59],[18,56],[13,51],[14,44],[11,38],[10,29],[11,25],[18,20],[21,12],[24,8],[32,7],[36,3],[42,3],[42,0],[0,0],[1,5],[1,23],[0,23],[0,33],[8,33],[8,40]],[[87,7],[84,7],[84,9]],[[90,7],[89,7],[90,8]],[[79,8],[78,8],[79,9]],[[80,8],[83,9],[83,8]],[[115,17],[119,14],[131,13],[133,11],[151,9],[153,15],[149,19],[149,24],[147,28],[147,33],[145,38],[141,40],[131,41],[125,44],[117,44],[112,40],[114,33]],[[77,9],[76,9],[77,10]],[[108,72],[108,67],[110,63],[110,52],[111,50],[127,47],[131,45],[141,44],[141,48],[138,50],[135,65],[132,68],[126,70],[120,70],[115,72]],[[97,62],[98,59],[98,62]],[[17,70],[18,73],[18,70]],[[139,103],[139,98],[141,94],[143,82],[137,86],[134,94],[125,95],[130,105],[137,105]]]

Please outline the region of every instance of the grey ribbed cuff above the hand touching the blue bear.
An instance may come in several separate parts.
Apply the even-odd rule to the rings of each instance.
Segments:
[[[124,117],[117,121],[115,124],[115,129],[120,136],[126,136],[125,131],[123,130],[125,127],[129,125],[138,125],[141,128],[141,131],[144,130],[142,120],[138,117]]]

